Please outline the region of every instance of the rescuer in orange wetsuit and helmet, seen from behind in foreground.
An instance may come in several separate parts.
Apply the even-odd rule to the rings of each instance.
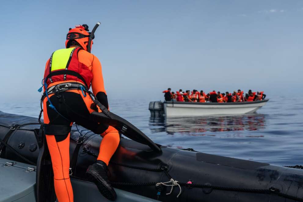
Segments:
[[[115,190],[107,177],[107,166],[119,145],[120,134],[114,127],[90,119],[92,112],[101,112],[96,103],[105,106],[102,111],[108,109],[108,99],[100,61],[90,53],[94,35],[88,31],[86,24],[70,28],[65,42],[66,49],[56,50],[51,55],[44,72],[43,88],[46,96],[41,99],[44,134],[59,202],[74,201],[69,177],[69,142],[71,125],[74,122],[103,136],[97,161],[88,167],[86,177],[93,179],[104,197],[116,199]],[[91,94],[86,94],[90,86],[96,95],[95,102],[90,97]]]

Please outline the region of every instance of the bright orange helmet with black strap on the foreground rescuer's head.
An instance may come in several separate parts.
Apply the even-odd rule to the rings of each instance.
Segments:
[[[72,45],[80,45],[84,50],[87,51],[88,39],[90,37],[90,32],[88,32],[88,26],[86,24],[76,25],[75,28],[69,28],[69,32],[66,35],[65,47],[69,48]],[[92,39],[94,36],[92,37]],[[73,40],[71,43],[69,41]],[[74,43],[74,44],[73,44]],[[77,44],[78,43],[78,44]],[[92,48],[93,41],[90,44],[90,49]]]

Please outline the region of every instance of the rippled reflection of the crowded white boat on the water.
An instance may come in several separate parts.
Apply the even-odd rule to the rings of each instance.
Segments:
[[[149,120],[149,126],[152,133],[166,132],[167,134],[190,133],[190,135],[206,135],[202,133],[260,130],[265,128],[266,121],[264,114],[178,118],[151,117]]]

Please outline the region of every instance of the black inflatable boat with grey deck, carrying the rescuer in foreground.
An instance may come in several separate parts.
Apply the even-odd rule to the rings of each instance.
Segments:
[[[36,184],[42,177],[35,165],[39,127],[36,118],[0,112],[0,201],[36,201],[40,186],[47,201],[55,201],[51,171],[43,185]],[[85,179],[102,137],[78,128],[72,128],[70,139],[74,201],[106,201]],[[108,166],[117,201],[303,201],[301,169],[158,146],[161,152],[121,138]]]

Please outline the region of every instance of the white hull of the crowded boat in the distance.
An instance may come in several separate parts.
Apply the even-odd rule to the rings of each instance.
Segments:
[[[254,113],[268,100],[233,103],[164,102],[165,116],[206,116]]]

